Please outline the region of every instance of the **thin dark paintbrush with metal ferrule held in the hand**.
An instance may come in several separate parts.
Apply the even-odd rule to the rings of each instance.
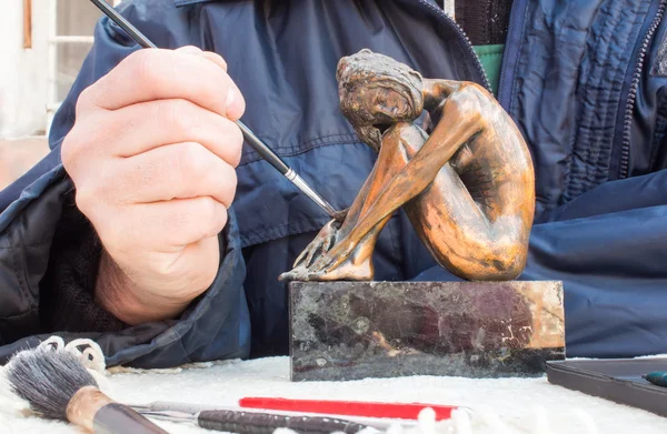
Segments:
[[[152,43],[146,36],[143,36],[135,26],[132,26],[128,20],[126,20],[120,13],[118,13],[109,3],[104,0],[90,0],[94,6],[97,6],[109,19],[116,22],[122,30],[125,30],[139,46],[143,48],[158,48],[155,43]],[[292,168],[290,168],[277,153],[275,153],[271,148],[269,148],[265,142],[262,142],[255,133],[241,121],[236,122],[241,132],[243,133],[243,138],[249,145],[251,145],[262,159],[265,159],[269,164],[271,164],[276,170],[278,170],[285,178],[287,178],[297,189],[299,189],[303,194],[310,198],[315,203],[317,203],[331,219],[342,221],[346,213],[336,211],[329,202],[327,202],[322,196],[320,196]]]

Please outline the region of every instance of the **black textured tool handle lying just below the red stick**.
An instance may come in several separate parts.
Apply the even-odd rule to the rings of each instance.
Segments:
[[[276,428],[289,428],[299,434],[355,434],[366,425],[331,417],[285,416],[268,413],[246,413],[207,410],[199,413],[199,426],[238,434],[271,434]]]

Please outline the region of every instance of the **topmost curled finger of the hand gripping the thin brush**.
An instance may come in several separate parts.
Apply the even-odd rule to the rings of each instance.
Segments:
[[[186,99],[237,120],[245,110],[245,101],[223,62],[191,47],[136,51],[81,93],[77,112],[91,105],[118,110],[147,101]]]

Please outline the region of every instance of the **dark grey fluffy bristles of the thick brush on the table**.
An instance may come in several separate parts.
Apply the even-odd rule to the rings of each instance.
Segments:
[[[16,354],[7,379],[18,396],[44,417],[67,421],[67,405],[81,387],[97,382],[76,355],[64,350],[38,349]]]

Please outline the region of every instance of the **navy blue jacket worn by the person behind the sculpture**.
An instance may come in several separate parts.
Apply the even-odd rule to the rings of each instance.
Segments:
[[[564,281],[568,356],[667,352],[665,3],[512,6],[498,99],[530,148],[538,202],[521,279]],[[425,77],[488,87],[468,40],[427,0],[127,0],[119,10],[159,47],[225,57],[246,98],[243,122],[337,209],[351,204],[376,158],[339,111],[342,55],[370,48]],[[71,206],[60,144],[79,93],[139,49],[107,19],[94,34],[57,113],[51,153],[0,194],[0,357],[57,332],[40,326],[39,307],[40,292],[53,290],[42,277]],[[287,353],[287,294],[277,277],[328,219],[250,148],[238,178],[215,283],[177,321],[86,334],[110,365]],[[377,280],[456,279],[402,212],[374,261]]]

